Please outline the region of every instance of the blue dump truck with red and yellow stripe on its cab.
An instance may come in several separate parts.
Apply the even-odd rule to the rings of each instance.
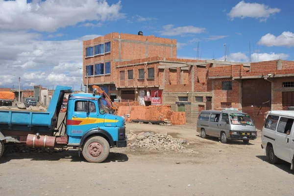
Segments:
[[[64,95],[73,93],[71,87],[56,87],[47,112],[1,109],[0,157],[9,145],[25,143],[28,147],[77,147],[88,162],[100,163],[111,147],[126,147],[124,118],[107,114],[95,92],[69,96],[64,133],[58,130],[58,115]]]

